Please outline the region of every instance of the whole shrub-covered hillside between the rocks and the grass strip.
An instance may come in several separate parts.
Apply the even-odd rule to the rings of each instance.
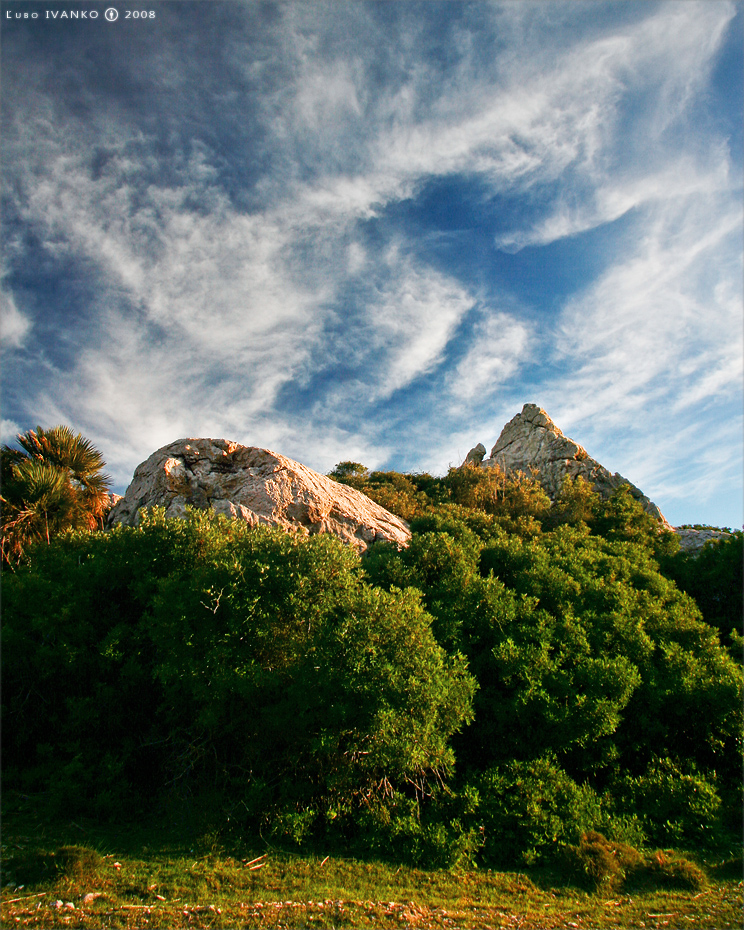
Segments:
[[[6,788],[442,865],[738,832],[740,533],[695,563],[622,489],[332,477],[410,546],[153,512],[6,570]]]

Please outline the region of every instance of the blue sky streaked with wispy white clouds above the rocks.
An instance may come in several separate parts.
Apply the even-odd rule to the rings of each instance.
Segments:
[[[536,403],[742,526],[741,2],[0,12],[3,441],[444,474]]]

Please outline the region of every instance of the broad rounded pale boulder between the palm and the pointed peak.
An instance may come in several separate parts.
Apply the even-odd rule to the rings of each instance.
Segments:
[[[137,467],[108,525],[135,526],[146,507],[182,517],[187,506],[310,535],[333,533],[357,551],[377,540],[399,546],[407,525],[354,488],[268,449],[224,439],[179,439]]]

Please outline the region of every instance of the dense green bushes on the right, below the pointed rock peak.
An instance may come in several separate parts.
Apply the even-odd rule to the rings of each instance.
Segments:
[[[494,843],[534,858],[587,829],[710,839],[720,789],[738,785],[740,670],[660,573],[640,506],[610,504],[606,536],[568,520],[510,533],[494,515],[440,507],[414,521],[405,551],[381,547],[365,567],[376,584],[422,592],[439,641],[478,681],[454,746],[494,859]],[[659,757],[676,760],[662,782]],[[598,806],[569,802],[574,789]]]

